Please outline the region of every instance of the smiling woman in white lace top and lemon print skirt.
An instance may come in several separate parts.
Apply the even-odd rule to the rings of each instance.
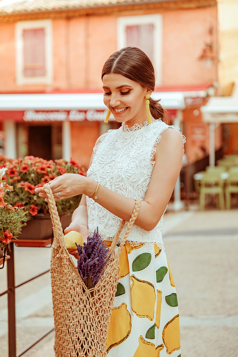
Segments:
[[[165,112],[151,98],[149,124],[146,100],[155,89],[155,74],[140,49],[126,47],[112,54],[103,66],[102,82],[104,103],[122,126],[98,138],[87,177],[65,174],[50,186],[56,201],[83,194],[65,233],[79,231],[86,240],[98,226],[107,246],[121,219],[129,221],[135,198],[142,201],[120,257],[107,352],[110,357],[178,357],[178,304],[163,250],[162,222],[181,169],[183,138],[162,121]],[[43,188],[35,191],[46,197]],[[73,254],[78,258],[77,251]]]

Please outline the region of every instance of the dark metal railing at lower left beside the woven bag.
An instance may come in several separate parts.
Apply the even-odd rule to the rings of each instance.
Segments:
[[[7,290],[0,293],[0,297],[7,294],[7,313],[8,313],[8,356],[9,357],[20,357],[29,351],[33,346],[40,342],[44,337],[49,335],[50,332],[54,330],[52,327],[50,330],[46,331],[44,335],[40,336],[31,345],[27,346],[23,351],[16,354],[16,302],[15,302],[15,289],[22,285],[48,273],[50,271],[46,270],[43,273],[35,275],[34,277],[23,281],[22,283],[15,285],[15,264],[14,264],[14,243],[9,243],[7,246],[7,255],[10,259],[7,260]]]

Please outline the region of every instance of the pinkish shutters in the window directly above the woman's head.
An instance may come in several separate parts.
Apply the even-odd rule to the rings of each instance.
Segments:
[[[153,62],[153,24],[126,26],[126,45],[140,48]]]

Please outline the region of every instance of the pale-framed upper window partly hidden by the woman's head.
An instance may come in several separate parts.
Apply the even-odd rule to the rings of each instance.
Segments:
[[[117,47],[135,46],[150,57],[156,85],[162,84],[162,15],[118,17]]]

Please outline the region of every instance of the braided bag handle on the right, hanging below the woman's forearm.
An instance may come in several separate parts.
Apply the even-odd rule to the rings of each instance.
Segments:
[[[133,224],[134,224],[134,222],[135,222],[135,220],[136,220],[136,218],[137,218],[137,215],[138,215],[138,213],[139,213],[139,210],[140,210],[140,207],[141,207],[141,201],[140,201],[139,199],[137,199],[137,198],[135,199],[135,201],[136,201],[135,207],[134,207],[134,209],[133,209],[133,212],[132,212],[130,221],[128,222],[125,235],[124,235],[124,237],[123,237],[123,239],[122,239],[122,241],[121,241],[121,244],[120,244],[120,246],[119,246],[119,248],[118,248],[118,251],[117,251],[117,253],[116,253],[116,255],[115,255],[115,259],[120,257],[121,252],[122,252],[122,249],[123,249],[123,247],[124,247],[124,245],[125,245],[125,243],[126,243],[127,237],[128,237],[128,235],[129,235],[129,233],[130,233],[130,231],[131,231],[131,228],[132,228],[132,226],[133,226]],[[124,226],[125,226],[125,221],[122,220],[122,221],[121,221],[121,224],[120,224],[120,227],[118,228],[118,231],[117,231],[115,237],[113,238],[113,241],[112,241],[112,244],[111,244],[111,247],[110,247],[110,250],[109,250],[110,253],[111,253],[113,250],[115,250],[116,243],[117,243],[118,239],[120,238],[120,234],[121,234],[122,228],[123,228]]]

